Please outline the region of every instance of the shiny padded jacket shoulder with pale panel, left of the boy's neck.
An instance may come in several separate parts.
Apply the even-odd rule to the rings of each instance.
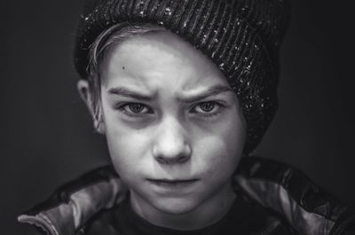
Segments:
[[[83,234],[91,218],[114,207],[126,193],[112,166],[95,168],[61,186],[48,200],[18,216],[18,221],[47,235]]]

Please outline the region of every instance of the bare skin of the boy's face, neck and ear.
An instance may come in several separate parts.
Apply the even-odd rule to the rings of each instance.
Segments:
[[[99,132],[134,211],[177,230],[216,223],[233,204],[230,178],[246,136],[224,75],[168,31],[115,44],[100,68]],[[78,89],[91,107],[88,83]]]

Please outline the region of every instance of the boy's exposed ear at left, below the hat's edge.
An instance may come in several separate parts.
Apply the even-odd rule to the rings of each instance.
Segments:
[[[94,128],[100,133],[105,134],[105,124],[102,121],[102,117],[97,117],[95,115],[95,111],[92,106],[92,94],[91,90],[89,89],[89,82],[86,80],[79,80],[77,82],[77,90],[79,91],[80,97],[83,99],[83,102],[88,107],[89,112],[92,117],[92,121],[94,124]]]

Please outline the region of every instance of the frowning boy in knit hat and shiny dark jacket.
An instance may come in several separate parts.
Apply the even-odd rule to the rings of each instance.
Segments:
[[[78,90],[113,167],[20,222],[48,234],[349,234],[295,169],[247,157],[277,106],[279,0],[87,0]]]

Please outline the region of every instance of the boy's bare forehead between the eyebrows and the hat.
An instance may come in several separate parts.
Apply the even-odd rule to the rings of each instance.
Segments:
[[[227,85],[224,75],[201,51],[168,30],[134,35],[107,51],[101,71],[106,86],[131,85],[180,91]]]

